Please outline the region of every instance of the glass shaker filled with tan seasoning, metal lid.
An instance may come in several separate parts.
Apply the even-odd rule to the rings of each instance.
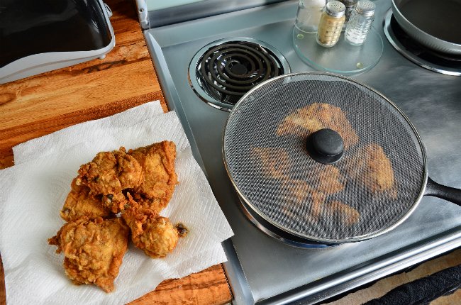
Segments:
[[[318,23],[317,43],[326,48],[338,43],[344,21],[345,5],[340,1],[328,1]]]

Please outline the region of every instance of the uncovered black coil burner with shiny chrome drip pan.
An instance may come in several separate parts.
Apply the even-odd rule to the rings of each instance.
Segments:
[[[189,65],[189,82],[207,104],[230,111],[257,84],[289,72],[287,60],[274,47],[233,38],[201,48]]]

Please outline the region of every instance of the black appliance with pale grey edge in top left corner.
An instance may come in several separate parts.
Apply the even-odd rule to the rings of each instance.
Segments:
[[[104,57],[115,45],[100,0],[0,3],[0,84]]]

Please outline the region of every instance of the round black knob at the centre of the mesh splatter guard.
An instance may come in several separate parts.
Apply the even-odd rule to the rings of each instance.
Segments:
[[[344,154],[343,138],[329,128],[323,128],[309,135],[306,148],[313,160],[324,164],[338,162]]]

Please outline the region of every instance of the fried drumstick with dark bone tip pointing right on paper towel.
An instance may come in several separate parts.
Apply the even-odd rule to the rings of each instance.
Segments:
[[[165,257],[176,248],[179,233],[182,236],[187,233],[184,225],[175,228],[170,219],[144,209],[133,200],[130,200],[130,209],[123,212],[122,218],[131,229],[133,244],[152,258]]]

